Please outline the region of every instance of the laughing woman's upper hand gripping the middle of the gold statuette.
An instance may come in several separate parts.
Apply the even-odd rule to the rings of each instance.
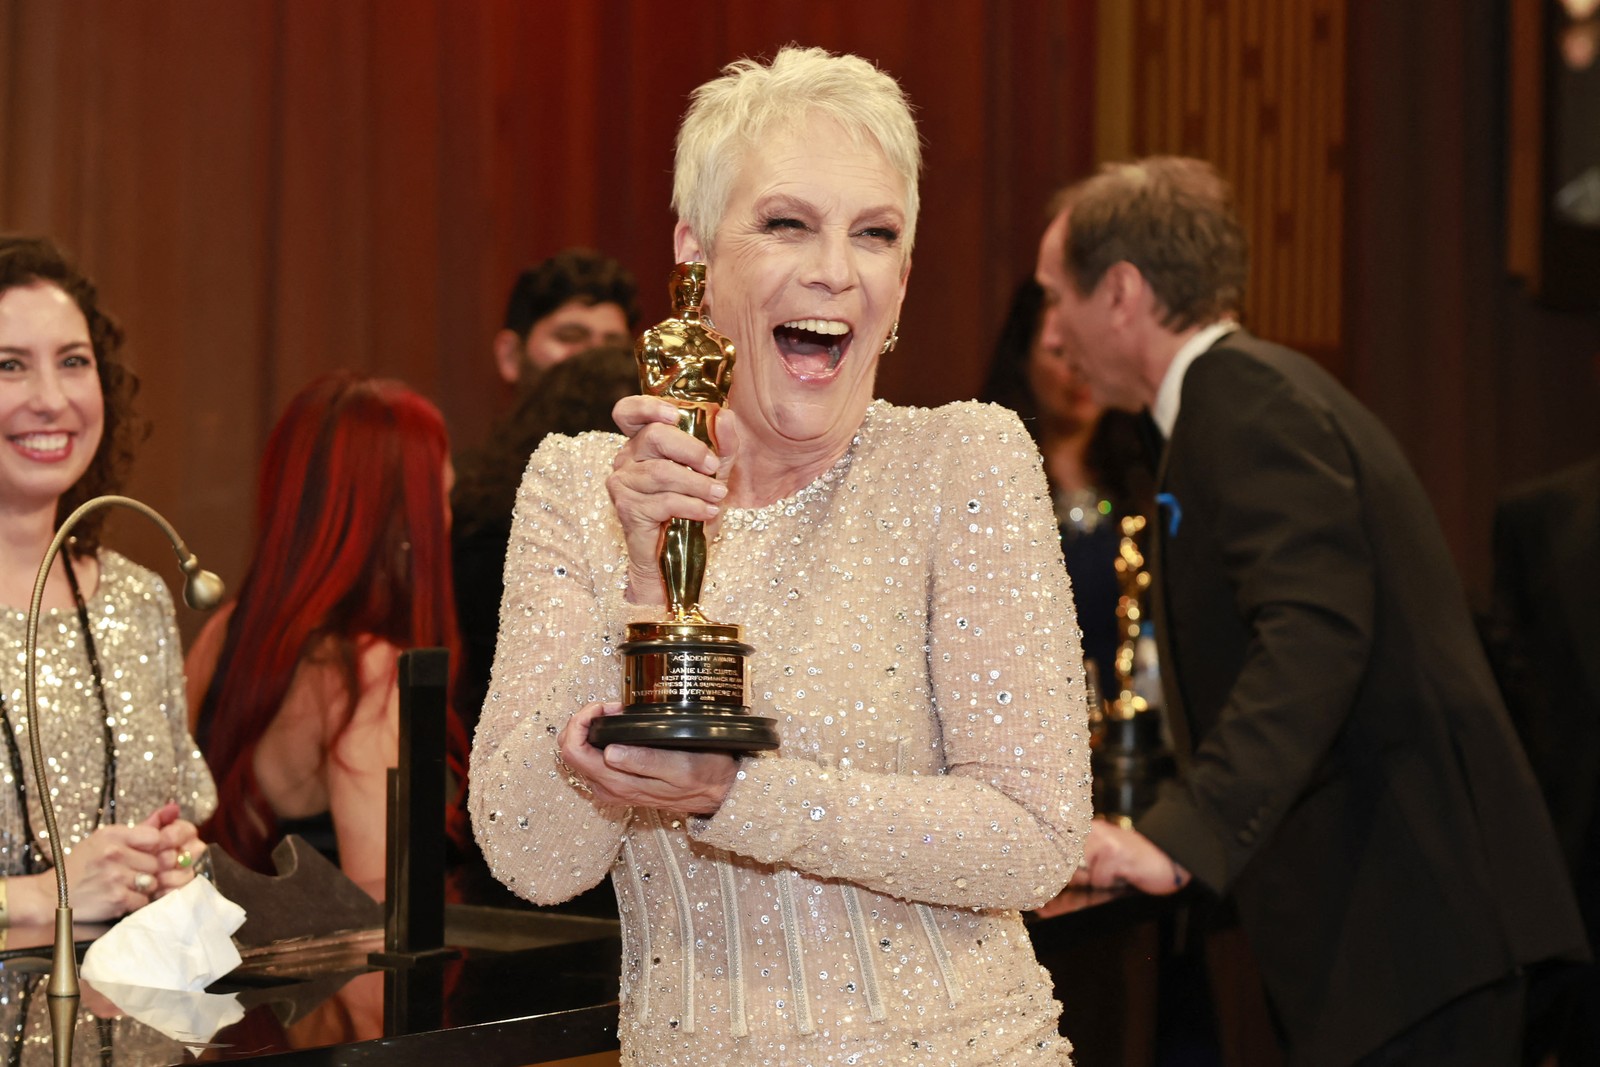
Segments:
[[[728,496],[731,461],[680,430],[678,410],[659,397],[624,397],[611,414],[627,435],[611,461],[606,491],[627,541],[629,600],[666,603],[661,528],[669,518],[715,520]],[[731,456],[736,432],[723,414],[717,413],[717,442]]]

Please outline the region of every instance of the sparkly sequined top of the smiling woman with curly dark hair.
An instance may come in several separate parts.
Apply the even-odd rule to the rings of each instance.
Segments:
[[[216,787],[200,749],[189,736],[184,704],[184,653],[173,616],[173,597],[152,571],[102,549],[99,584],[83,590],[94,648],[106,680],[106,705],[115,720],[117,822],[139,822],[176,800],[182,814],[200,822],[216,808]],[[45,841],[45,816],[29,755],[22,689],[27,614],[0,609],[0,694],[16,736],[27,782],[34,837]],[[56,790],[56,822],[72,845],[94,832],[106,768],[94,675],[75,609],[46,611],[38,624],[40,704],[46,709],[40,741]],[[24,872],[22,813],[18,806],[16,766],[0,744],[0,873]],[[45,849],[50,854],[50,849]]]

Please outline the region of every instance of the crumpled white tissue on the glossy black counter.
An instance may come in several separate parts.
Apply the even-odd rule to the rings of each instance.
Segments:
[[[80,974],[96,989],[115,982],[198,992],[238,966],[232,933],[243,921],[245,909],[195,878],[101,934]]]

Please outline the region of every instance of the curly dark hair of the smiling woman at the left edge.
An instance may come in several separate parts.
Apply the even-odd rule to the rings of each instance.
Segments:
[[[106,403],[99,448],[72,486],[56,501],[56,525],[75,507],[106,493],[120,493],[133,467],[134,446],[149,435],[149,426],[134,410],[139,378],[122,362],[122,326],[99,306],[94,283],[46,237],[0,235],[0,294],[38,282],[54,285],[72,298],[90,326],[94,370]],[[99,549],[106,512],[86,515],[74,530],[74,555]]]

